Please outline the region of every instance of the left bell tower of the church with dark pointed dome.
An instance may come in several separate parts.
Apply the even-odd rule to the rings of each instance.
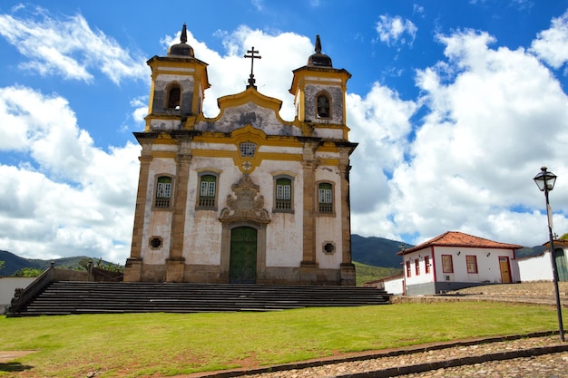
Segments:
[[[188,117],[202,114],[204,92],[211,87],[207,63],[195,58],[187,44],[183,24],[179,44],[171,45],[167,56],[153,56],[152,89],[145,131],[180,130]]]

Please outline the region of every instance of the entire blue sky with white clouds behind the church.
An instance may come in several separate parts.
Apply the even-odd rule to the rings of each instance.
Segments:
[[[0,249],[129,256],[146,61],[186,23],[207,116],[241,92],[284,102],[316,34],[348,82],[352,231],[416,244],[448,230],[534,246],[568,232],[568,0],[42,1],[0,4]]]

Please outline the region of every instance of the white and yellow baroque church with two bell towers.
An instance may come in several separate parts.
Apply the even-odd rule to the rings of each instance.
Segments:
[[[199,56],[199,52],[197,52]],[[321,53],[294,70],[293,121],[282,102],[243,92],[202,112],[207,63],[187,44],[154,56],[125,282],[354,286],[345,69]]]

